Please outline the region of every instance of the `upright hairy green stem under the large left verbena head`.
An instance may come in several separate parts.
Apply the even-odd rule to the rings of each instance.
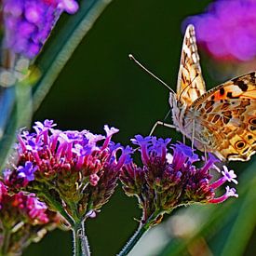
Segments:
[[[74,256],[89,256],[88,237],[85,233],[85,221],[76,222],[72,227]]]

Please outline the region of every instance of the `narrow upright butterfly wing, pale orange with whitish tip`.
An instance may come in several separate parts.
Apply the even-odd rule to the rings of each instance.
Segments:
[[[183,39],[177,97],[186,106],[206,92],[195,41],[195,28],[188,25]]]

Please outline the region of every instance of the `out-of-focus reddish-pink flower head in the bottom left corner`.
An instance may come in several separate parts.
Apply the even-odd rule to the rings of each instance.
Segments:
[[[1,255],[21,255],[24,248],[38,242],[60,222],[60,215],[47,209],[35,195],[8,195],[7,187],[0,182]]]

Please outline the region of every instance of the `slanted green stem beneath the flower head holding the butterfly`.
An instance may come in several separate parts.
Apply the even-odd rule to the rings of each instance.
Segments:
[[[139,228],[135,232],[135,234],[129,239],[126,246],[119,252],[118,256],[125,256],[134,248],[134,246],[138,243],[143,236],[151,227],[152,224],[155,222],[155,219],[159,215],[159,212],[153,213],[146,222],[140,222]],[[142,218],[143,220],[143,218]]]

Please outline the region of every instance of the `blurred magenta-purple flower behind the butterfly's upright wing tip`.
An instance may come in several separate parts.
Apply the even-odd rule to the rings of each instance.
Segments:
[[[256,56],[256,1],[217,0],[206,13],[189,17],[198,42],[217,60],[249,61]]]

